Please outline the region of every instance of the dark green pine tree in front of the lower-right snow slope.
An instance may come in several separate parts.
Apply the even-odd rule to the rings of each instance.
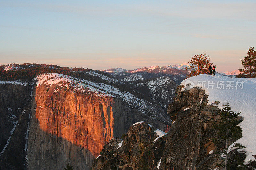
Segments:
[[[221,109],[220,118],[221,122],[218,124],[215,124],[213,127],[218,129],[218,138],[214,139],[214,143],[220,143],[221,141],[226,141],[226,146],[223,150],[223,153],[225,154],[225,166],[224,169],[227,170],[228,165],[228,140],[236,141],[237,139],[240,139],[242,137],[242,129],[240,126],[238,126],[239,121],[237,119],[238,115],[240,115],[241,112],[235,113],[231,110],[231,107],[228,103],[223,105],[223,108]],[[235,142],[234,145],[235,148],[241,149],[245,148],[245,146]],[[233,160],[235,161],[235,160]],[[242,161],[237,161],[237,166],[243,167]]]

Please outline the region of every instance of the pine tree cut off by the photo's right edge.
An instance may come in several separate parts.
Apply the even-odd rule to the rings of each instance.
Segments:
[[[254,50],[254,47],[250,47],[247,54],[248,56],[244,56],[244,59],[240,59],[244,68],[239,69],[239,71],[245,75],[248,74],[249,78],[251,78],[252,74],[256,72],[256,50]]]

